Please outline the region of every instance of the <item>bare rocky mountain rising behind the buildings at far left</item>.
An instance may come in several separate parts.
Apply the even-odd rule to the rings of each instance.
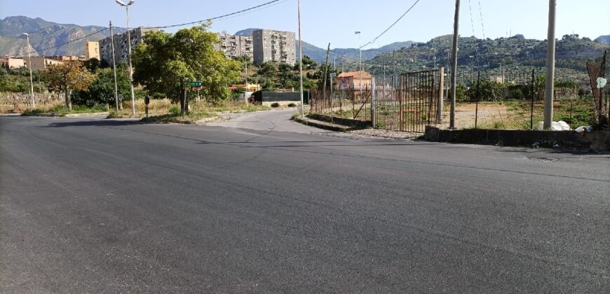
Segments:
[[[24,55],[27,53],[27,41],[25,41],[22,33],[29,34],[32,47],[36,50],[41,50],[55,47],[77,38],[82,38],[83,36],[92,34],[100,29],[104,29],[104,27],[81,27],[79,25],[48,22],[41,18],[9,16],[4,18],[4,20],[0,20],[0,56]],[[124,30],[116,29],[114,32],[119,31]],[[83,55],[86,41],[99,41],[107,36],[110,36],[110,31],[108,29],[79,41],[74,41],[56,48],[50,48],[43,52],[34,53],[33,55]]]

